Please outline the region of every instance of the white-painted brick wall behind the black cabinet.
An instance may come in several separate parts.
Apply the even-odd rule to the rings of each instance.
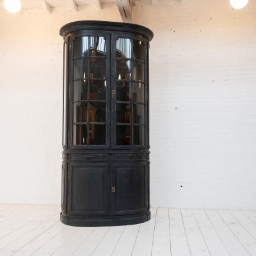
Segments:
[[[256,3],[136,7],[150,45],[151,205],[256,209]],[[60,204],[61,26],[115,4],[0,12],[0,202]]]

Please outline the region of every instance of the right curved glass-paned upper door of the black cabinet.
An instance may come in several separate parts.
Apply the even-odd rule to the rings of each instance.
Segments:
[[[115,51],[114,145],[144,146],[147,119],[145,44],[140,40],[117,38]]]

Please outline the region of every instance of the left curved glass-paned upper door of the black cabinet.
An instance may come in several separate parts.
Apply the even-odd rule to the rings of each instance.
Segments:
[[[74,40],[72,91],[72,144],[109,144],[109,43],[104,36]]]

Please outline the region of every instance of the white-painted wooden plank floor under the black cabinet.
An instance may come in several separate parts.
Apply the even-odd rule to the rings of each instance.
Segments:
[[[0,205],[0,255],[256,256],[256,211],[152,209],[147,223],[70,227],[60,206]]]

